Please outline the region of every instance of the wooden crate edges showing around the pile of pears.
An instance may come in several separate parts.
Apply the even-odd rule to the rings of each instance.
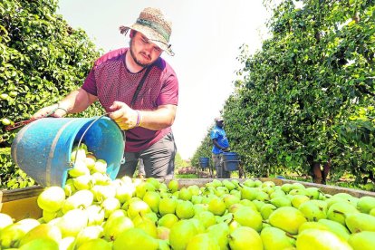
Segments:
[[[273,181],[274,184],[281,186],[285,183],[299,182],[305,187],[318,187],[325,194],[334,195],[337,193],[347,193],[353,197],[375,197],[375,192],[356,190],[346,187],[327,186],[322,184],[314,184],[303,181],[295,181],[280,178],[258,178],[262,182]],[[159,179],[161,182],[168,183],[169,180]],[[179,187],[188,187],[191,185],[204,186],[211,182],[213,178],[178,178]],[[220,179],[223,180],[223,179]],[[244,182],[246,178],[238,178],[240,183]],[[0,190],[0,212],[14,217],[15,220],[23,218],[39,218],[42,216],[42,210],[38,207],[36,199],[43,191],[43,187],[24,187],[14,190]]]

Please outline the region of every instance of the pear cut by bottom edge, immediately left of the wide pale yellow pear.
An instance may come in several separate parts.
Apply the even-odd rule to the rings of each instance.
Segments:
[[[261,232],[264,250],[285,249],[295,245],[295,239],[274,226],[265,227]]]

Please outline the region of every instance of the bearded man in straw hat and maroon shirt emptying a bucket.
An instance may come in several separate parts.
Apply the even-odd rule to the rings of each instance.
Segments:
[[[171,125],[178,105],[176,73],[160,55],[170,48],[171,23],[159,9],[145,8],[135,24],[120,26],[130,31],[130,48],[106,53],[93,65],[77,91],[34,114],[53,117],[86,110],[100,101],[120,129],[126,130],[125,163],[118,177],[132,177],[139,158],[146,177],[173,178],[176,144]]]

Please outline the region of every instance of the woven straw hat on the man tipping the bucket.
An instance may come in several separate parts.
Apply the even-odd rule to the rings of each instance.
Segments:
[[[157,44],[160,49],[169,55],[175,54],[169,44],[172,23],[166,19],[166,16],[159,9],[145,8],[139,14],[135,24],[120,26],[120,33],[127,34],[130,29],[146,35],[149,41]]]

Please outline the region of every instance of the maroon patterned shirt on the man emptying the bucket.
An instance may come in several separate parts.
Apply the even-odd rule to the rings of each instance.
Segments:
[[[110,112],[113,101],[130,105],[145,69],[131,73],[125,66],[128,48],[106,53],[91,69],[82,89],[98,97],[105,111]],[[137,100],[132,107],[139,111],[154,111],[159,105],[178,105],[178,79],[170,65],[159,57],[152,66]],[[138,152],[164,137],[170,127],[163,130],[148,130],[137,127],[126,131],[125,150]]]

